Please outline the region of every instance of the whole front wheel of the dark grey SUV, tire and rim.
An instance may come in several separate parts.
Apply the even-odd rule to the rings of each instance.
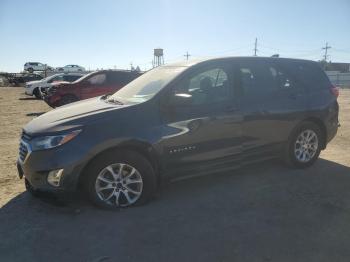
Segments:
[[[156,190],[152,165],[134,151],[109,151],[95,159],[86,170],[85,191],[98,207],[118,209],[141,205]]]

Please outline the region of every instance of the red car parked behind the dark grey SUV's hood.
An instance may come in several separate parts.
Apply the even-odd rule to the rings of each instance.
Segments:
[[[58,83],[44,94],[44,101],[51,107],[114,93],[141,75],[137,71],[101,70],[85,75],[72,83]]]

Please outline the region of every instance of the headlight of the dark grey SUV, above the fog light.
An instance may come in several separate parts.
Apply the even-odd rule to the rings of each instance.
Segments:
[[[36,151],[36,150],[50,149],[53,147],[63,145],[69,142],[70,140],[72,140],[74,137],[76,137],[80,132],[81,130],[74,130],[63,135],[43,136],[43,137],[34,138],[30,143],[31,149],[33,151]]]

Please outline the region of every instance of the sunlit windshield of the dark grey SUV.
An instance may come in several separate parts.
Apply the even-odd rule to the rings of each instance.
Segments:
[[[118,90],[108,100],[141,103],[151,99],[186,67],[162,66],[152,69]]]

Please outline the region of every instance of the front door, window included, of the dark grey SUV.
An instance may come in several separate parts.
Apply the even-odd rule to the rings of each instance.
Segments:
[[[242,118],[233,88],[232,67],[227,63],[200,68],[174,84],[161,110],[163,163],[173,171],[170,175],[219,171],[239,163]],[[191,100],[173,104],[175,96]]]

